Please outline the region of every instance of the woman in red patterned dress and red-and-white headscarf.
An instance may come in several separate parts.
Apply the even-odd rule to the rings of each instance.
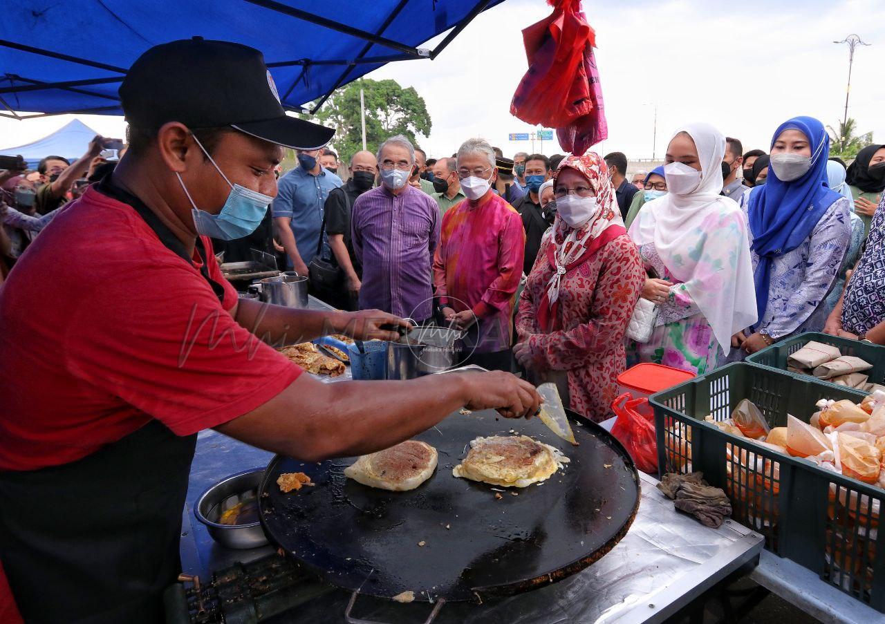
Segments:
[[[595,152],[563,159],[554,196],[556,220],[519,296],[513,355],[540,380],[565,374],[571,408],[598,422],[611,416],[645,273]]]

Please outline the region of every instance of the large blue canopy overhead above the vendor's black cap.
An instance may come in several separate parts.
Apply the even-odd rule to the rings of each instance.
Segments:
[[[117,89],[135,59],[195,35],[261,50],[283,106],[313,113],[381,65],[435,58],[503,1],[25,0],[0,20],[0,115],[121,114]],[[449,29],[435,50],[417,47]]]

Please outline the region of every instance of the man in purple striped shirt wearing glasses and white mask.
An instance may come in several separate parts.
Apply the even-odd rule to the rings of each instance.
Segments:
[[[430,268],[440,211],[433,197],[409,184],[414,166],[415,148],[403,135],[381,143],[381,186],[354,202],[350,242],[363,267],[360,309],[423,322],[433,313]]]

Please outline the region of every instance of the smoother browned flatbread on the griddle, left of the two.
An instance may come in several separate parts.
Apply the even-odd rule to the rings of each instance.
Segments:
[[[384,451],[363,455],[344,475],[370,488],[403,492],[415,489],[434,474],[436,449],[418,440],[406,440]]]

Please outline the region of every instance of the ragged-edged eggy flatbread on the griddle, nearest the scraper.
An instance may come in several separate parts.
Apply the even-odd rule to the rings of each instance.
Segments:
[[[525,488],[549,479],[569,459],[549,444],[527,435],[478,437],[451,473],[473,481]]]

